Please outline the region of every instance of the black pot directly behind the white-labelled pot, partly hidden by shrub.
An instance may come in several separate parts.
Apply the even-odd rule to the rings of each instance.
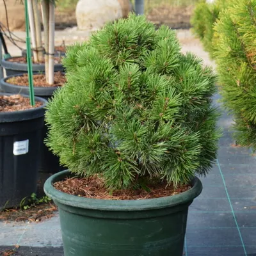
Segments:
[[[18,74],[15,76],[21,76],[22,74]],[[8,80],[10,77],[15,76],[8,76],[0,80],[0,86],[4,92],[7,93],[24,93],[29,95],[29,88],[28,86],[19,86],[15,84],[6,83],[6,80]],[[42,97],[46,100],[50,99],[52,97],[52,94],[55,90],[57,90],[59,87],[34,87],[34,92],[36,96]],[[58,156],[55,156],[52,154],[52,152],[46,147],[44,144],[44,140],[47,137],[47,125],[44,125],[44,128],[42,130],[42,154],[41,154],[41,160],[39,165],[39,172],[47,172],[47,173],[56,173],[60,170],[64,170],[65,167],[60,165],[60,159]]]

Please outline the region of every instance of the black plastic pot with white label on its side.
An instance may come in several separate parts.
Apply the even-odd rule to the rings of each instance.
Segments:
[[[47,101],[38,97],[35,100],[44,105],[0,113],[0,209],[19,206],[24,198],[36,192]]]

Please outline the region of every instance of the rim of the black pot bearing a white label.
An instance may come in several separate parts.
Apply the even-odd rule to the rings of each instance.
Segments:
[[[0,93],[0,95],[14,95],[16,93]],[[25,98],[29,98],[29,95],[20,94]],[[40,97],[35,97],[35,101],[44,102],[44,104],[38,108],[25,109],[20,111],[12,111],[12,112],[0,112],[0,122],[19,122],[24,120],[31,120],[34,118],[39,118],[44,116],[45,106],[47,104],[47,100],[42,99]]]

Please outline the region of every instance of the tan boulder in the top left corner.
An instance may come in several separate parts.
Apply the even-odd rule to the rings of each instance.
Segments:
[[[8,12],[8,21],[9,28],[11,31],[20,30],[25,31],[25,9],[24,5],[20,4],[17,0],[8,0],[6,1],[7,12]],[[7,26],[6,23],[6,12],[4,4],[0,4],[0,20],[4,26]]]

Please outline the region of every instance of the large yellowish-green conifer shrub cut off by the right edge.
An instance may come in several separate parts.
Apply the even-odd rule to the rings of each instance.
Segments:
[[[231,1],[214,30],[223,105],[234,115],[237,143],[256,149],[256,0]]]

